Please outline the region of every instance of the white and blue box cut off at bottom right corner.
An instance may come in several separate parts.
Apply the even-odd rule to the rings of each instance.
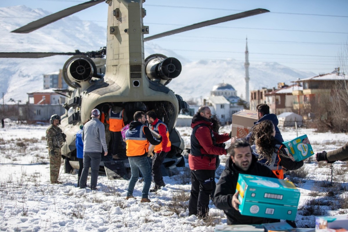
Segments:
[[[335,215],[315,217],[315,231],[320,229],[346,229],[348,230],[348,215]]]

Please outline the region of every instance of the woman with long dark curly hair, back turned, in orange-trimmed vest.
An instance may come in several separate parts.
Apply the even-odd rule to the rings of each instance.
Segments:
[[[275,136],[275,127],[270,120],[256,124],[252,131],[250,143],[258,162],[268,166],[279,178],[284,178],[284,170],[296,170],[303,166],[303,161],[296,162],[288,157],[284,145]]]

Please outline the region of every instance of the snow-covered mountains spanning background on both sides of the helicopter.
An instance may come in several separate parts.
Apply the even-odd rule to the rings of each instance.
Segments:
[[[106,29],[91,22],[69,16],[29,34],[10,31],[51,12],[30,9],[26,6],[0,8],[0,50],[71,52],[98,50],[106,45]],[[25,17],[22,17],[25,15]],[[228,60],[201,60],[191,62],[175,51],[163,49],[154,41],[145,43],[145,57],[161,53],[175,57],[182,63],[182,72],[168,87],[184,99],[206,97],[214,85],[230,83],[245,96],[244,62]],[[39,59],[0,59],[0,93],[5,93],[5,103],[27,101],[27,93],[43,89],[42,74],[56,72],[69,56],[53,56]],[[278,82],[290,83],[297,78],[311,77],[314,73],[300,72],[278,63],[254,63],[250,61],[250,89],[274,87]]]

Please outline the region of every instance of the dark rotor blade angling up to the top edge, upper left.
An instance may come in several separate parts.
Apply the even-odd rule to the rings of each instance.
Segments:
[[[62,19],[66,16],[72,15],[78,11],[84,10],[88,7],[94,6],[98,3],[101,3],[105,0],[91,0],[88,2],[81,3],[79,5],[66,8],[64,10],[58,11],[57,13],[54,13],[52,15],[48,15],[46,17],[40,18],[34,22],[28,23],[22,27],[19,27],[18,29],[11,31],[14,33],[29,33],[32,31],[35,31],[43,26],[46,26],[50,23],[56,22],[59,19]]]

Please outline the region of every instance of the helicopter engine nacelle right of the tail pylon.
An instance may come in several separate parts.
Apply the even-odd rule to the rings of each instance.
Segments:
[[[153,54],[145,59],[145,71],[150,80],[167,85],[181,73],[181,63],[174,57]]]

